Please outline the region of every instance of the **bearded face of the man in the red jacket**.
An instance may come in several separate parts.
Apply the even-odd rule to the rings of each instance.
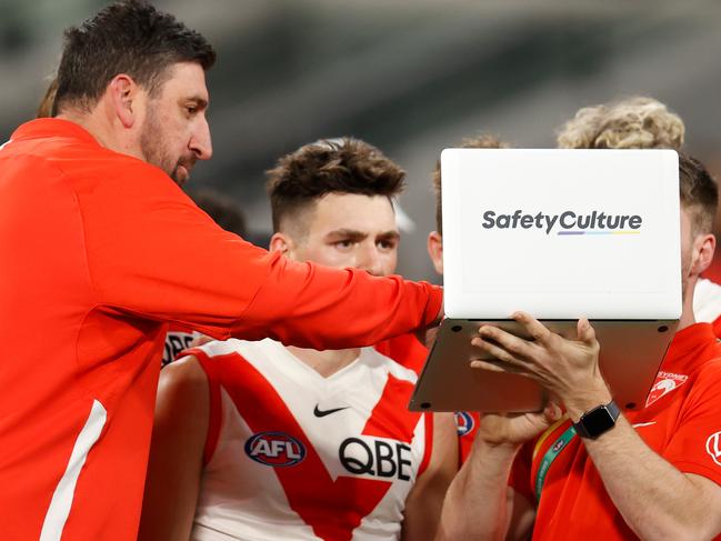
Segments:
[[[140,148],[149,163],[182,186],[196,160],[212,154],[206,119],[208,89],[206,73],[198,63],[181,62],[169,69],[170,78],[159,96],[148,101]]]

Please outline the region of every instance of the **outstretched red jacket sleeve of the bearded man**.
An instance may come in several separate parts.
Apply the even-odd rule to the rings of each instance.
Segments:
[[[109,311],[316,349],[373,344],[438,315],[437,287],[269,253],[220,229],[160,170],[123,166],[77,187],[91,282]]]

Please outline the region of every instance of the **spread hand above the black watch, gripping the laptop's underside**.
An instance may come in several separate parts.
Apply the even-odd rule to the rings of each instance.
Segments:
[[[579,320],[577,338],[569,340],[528,313],[517,312],[512,318],[523,325],[531,340],[483,325],[479,329],[480,338],[471,343],[498,361],[473,360],[471,367],[531,378],[559,397],[573,421],[611,400],[599,370],[599,342],[587,319]]]

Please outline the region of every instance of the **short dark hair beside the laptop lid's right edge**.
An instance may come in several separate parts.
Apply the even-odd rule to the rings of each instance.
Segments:
[[[713,231],[719,188],[703,164],[679,152],[679,189],[681,206],[690,213],[694,234]]]

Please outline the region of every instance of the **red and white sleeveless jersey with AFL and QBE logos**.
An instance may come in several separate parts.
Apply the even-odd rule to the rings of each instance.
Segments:
[[[428,464],[417,375],[372,348],[323,378],[270,339],[189,350],[211,397],[194,541],[399,539]]]

